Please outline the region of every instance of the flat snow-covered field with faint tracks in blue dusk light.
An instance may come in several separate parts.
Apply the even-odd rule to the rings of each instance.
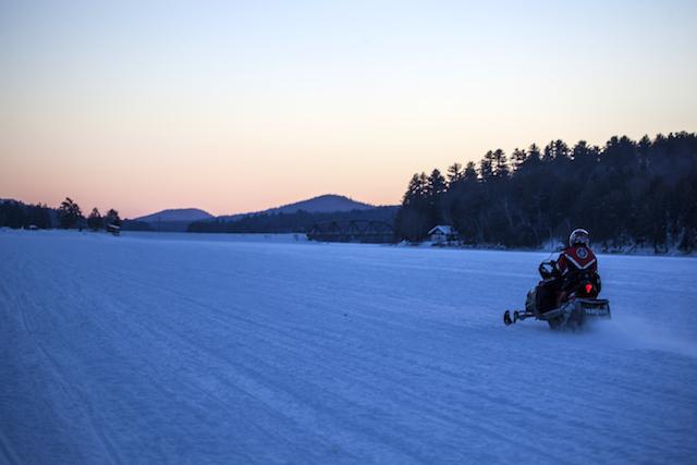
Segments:
[[[697,259],[0,231],[0,463],[695,463]]]

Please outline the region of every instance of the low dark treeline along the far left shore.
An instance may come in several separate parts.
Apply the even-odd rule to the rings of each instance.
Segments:
[[[26,205],[16,200],[0,201],[0,228],[12,229],[83,229],[93,231],[103,230],[108,227],[121,227],[121,218],[114,209],[107,211],[102,217],[97,208],[85,218],[80,205],[70,197],[53,209],[47,205]]]

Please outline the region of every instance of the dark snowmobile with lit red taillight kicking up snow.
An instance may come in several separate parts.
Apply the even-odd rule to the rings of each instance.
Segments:
[[[542,280],[528,291],[525,311],[505,310],[503,322],[509,326],[535,318],[547,321],[553,330],[576,330],[590,319],[610,319],[610,301],[598,298],[601,283],[596,272],[576,271],[559,277],[553,260],[538,268]]]

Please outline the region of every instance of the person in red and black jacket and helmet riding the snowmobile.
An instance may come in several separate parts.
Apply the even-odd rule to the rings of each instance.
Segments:
[[[551,265],[552,269],[547,271],[540,266],[542,281],[537,285],[534,295],[530,296],[540,314],[559,307],[566,296],[566,292],[580,274],[589,273],[595,281],[596,289],[598,292],[600,291],[598,260],[596,254],[590,249],[588,231],[584,229],[572,231],[568,236],[568,246],[559,254],[557,260]]]

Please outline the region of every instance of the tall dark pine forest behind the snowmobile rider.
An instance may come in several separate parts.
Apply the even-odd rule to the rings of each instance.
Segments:
[[[678,246],[697,231],[697,135],[612,137],[603,147],[563,140],[490,150],[478,164],[414,174],[398,213],[401,238],[452,224],[466,244],[537,247],[586,228],[603,248]]]

